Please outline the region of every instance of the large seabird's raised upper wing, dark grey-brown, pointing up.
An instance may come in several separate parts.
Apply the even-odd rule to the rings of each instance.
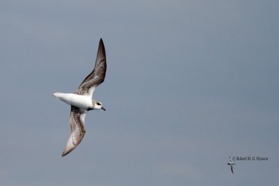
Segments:
[[[82,84],[80,84],[75,93],[79,95],[87,94],[92,96],[95,88],[104,82],[106,70],[107,62],[105,56],[105,46],[102,38],[100,38],[95,67],[93,71],[83,80]]]

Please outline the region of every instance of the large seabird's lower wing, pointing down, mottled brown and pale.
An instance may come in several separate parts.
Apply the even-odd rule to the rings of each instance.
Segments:
[[[82,141],[85,134],[84,118],[86,111],[81,111],[75,106],[70,107],[70,137],[63,150],[62,156],[68,155]]]

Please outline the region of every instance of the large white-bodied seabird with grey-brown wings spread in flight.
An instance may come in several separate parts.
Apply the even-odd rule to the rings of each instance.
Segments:
[[[87,111],[103,109],[103,104],[93,100],[93,91],[104,82],[107,63],[105,57],[105,46],[100,38],[96,63],[93,71],[83,80],[75,93],[54,93],[59,100],[70,104],[70,138],[62,156],[68,155],[82,141],[85,134],[84,118]]]

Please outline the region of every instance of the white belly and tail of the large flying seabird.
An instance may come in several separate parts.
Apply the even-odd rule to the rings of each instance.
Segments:
[[[54,93],[54,96],[67,104],[79,107],[80,109],[88,109],[92,107],[91,97],[88,95],[77,95],[74,93]]]

